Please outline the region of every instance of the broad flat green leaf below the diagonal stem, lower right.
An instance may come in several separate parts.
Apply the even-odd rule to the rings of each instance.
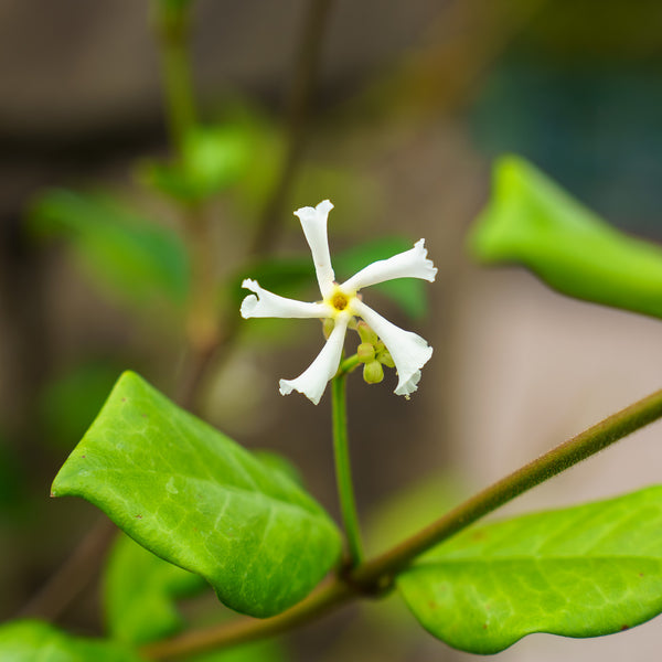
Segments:
[[[472,653],[599,637],[662,611],[662,487],[474,526],[397,578],[420,623]]]

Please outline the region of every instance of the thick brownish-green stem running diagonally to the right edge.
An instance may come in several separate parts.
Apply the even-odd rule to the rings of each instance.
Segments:
[[[337,381],[339,377],[333,380],[332,386]],[[380,589],[391,586],[393,577],[426,549],[449,538],[526,490],[660,418],[662,391],[617,412],[517,469],[385,554],[360,564],[346,575],[333,576],[291,609],[264,620],[239,618],[206,630],[186,632],[145,647],[141,653],[151,660],[170,660],[203,650],[256,641],[309,622],[353,598],[374,596]]]

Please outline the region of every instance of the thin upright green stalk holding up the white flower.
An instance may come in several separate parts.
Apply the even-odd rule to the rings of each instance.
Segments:
[[[340,373],[331,380],[331,417],[333,419],[333,452],[335,456],[335,480],[342,522],[348,538],[350,554],[349,566],[354,567],[361,563],[363,552],[361,547],[361,533],[354,500],[354,485],[350,465],[350,449],[348,439],[348,412],[345,398],[345,373]]]

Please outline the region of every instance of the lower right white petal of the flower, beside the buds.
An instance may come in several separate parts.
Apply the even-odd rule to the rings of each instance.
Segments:
[[[359,299],[352,301],[352,310],[384,341],[393,356],[399,377],[394,393],[405,396],[414,393],[420,381],[420,369],[433,355],[433,348],[420,335],[396,327]]]

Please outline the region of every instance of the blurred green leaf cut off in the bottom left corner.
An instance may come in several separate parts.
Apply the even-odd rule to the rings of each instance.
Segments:
[[[0,660],[7,662],[140,662],[111,641],[73,637],[49,623],[13,621],[0,627]]]

